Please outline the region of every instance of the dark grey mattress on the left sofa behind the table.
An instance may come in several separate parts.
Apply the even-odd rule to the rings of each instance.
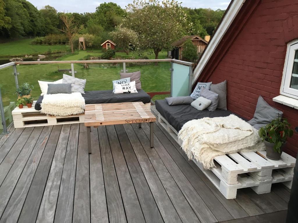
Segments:
[[[104,103],[121,103],[121,102],[143,102],[150,103],[150,96],[142,89],[138,93],[131,94],[114,94],[113,90],[105,91],[85,91],[82,94],[86,104],[104,104]],[[40,96],[35,103],[35,109],[41,110],[41,102],[44,96]]]

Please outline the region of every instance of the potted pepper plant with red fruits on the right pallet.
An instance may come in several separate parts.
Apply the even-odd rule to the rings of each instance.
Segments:
[[[270,124],[260,128],[259,136],[266,145],[266,157],[272,160],[279,160],[287,137],[294,134],[291,125],[285,118],[274,119]]]

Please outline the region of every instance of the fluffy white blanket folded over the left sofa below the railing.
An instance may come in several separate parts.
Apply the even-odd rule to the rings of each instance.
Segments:
[[[44,95],[41,103],[41,113],[54,116],[82,114],[85,109],[85,99],[81,93]]]

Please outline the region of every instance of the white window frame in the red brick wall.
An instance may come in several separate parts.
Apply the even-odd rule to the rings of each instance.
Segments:
[[[290,87],[296,50],[298,50],[298,40],[288,43],[280,94],[298,99],[298,90]]]

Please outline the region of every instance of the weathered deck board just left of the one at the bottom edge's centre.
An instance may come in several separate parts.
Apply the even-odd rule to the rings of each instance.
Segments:
[[[122,201],[125,208],[126,218],[131,223],[145,222],[142,209],[139,204],[134,184],[126,165],[125,158],[117,137],[114,125],[106,126],[114,165],[117,172],[118,183],[122,195]]]

